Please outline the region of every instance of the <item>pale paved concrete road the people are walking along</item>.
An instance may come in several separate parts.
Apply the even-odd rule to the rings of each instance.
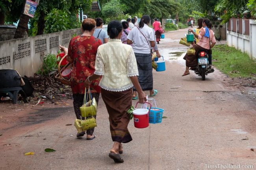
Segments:
[[[74,126],[66,126],[75,118],[72,101],[69,106],[36,107],[47,110],[27,106],[20,113],[3,113],[0,170],[226,170],[239,164],[256,169],[255,100],[227,86],[232,80],[219,71],[205,81],[192,72],[181,77],[185,64],[180,55],[186,48],[178,39],[184,33],[186,29],[165,33],[159,45],[167,62],[166,71],[154,71],[159,91],[154,98],[167,118],[145,129],[129,124],[133,141],[124,144],[124,163],[108,157],[112,141],[100,98],[93,141],[76,139]],[[173,52],[179,51],[175,57]],[[32,151],[35,155],[24,155]]]

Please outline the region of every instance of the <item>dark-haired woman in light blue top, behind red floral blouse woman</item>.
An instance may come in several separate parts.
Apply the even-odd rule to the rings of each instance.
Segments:
[[[96,28],[93,33],[93,37],[98,38],[101,40],[102,44],[105,44],[108,42],[108,35],[104,29],[102,29],[103,26],[103,20],[102,18],[95,18],[96,22]]]

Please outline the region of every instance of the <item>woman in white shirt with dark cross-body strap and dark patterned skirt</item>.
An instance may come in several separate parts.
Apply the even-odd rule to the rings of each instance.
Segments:
[[[150,23],[150,17],[143,15],[139,22],[139,27],[135,26],[127,36],[127,44],[132,44],[135,57],[137,60],[137,66],[139,70],[139,84],[143,91],[149,90],[150,96],[155,96],[158,91],[153,90],[153,74],[152,74],[152,55],[151,48],[155,46],[155,35],[152,28],[148,25]],[[138,99],[134,87],[133,99]]]

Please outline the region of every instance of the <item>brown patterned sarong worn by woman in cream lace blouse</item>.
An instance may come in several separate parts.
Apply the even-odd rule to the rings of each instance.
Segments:
[[[132,136],[127,128],[130,122],[127,111],[132,106],[132,88],[126,91],[101,89],[101,96],[108,110],[113,142],[128,143],[132,141]]]

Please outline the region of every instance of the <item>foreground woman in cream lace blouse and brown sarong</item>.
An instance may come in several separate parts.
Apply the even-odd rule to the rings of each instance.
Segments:
[[[127,110],[132,106],[132,87],[135,86],[139,94],[139,102],[147,101],[137,76],[138,68],[132,46],[122,44],[122,24],[111,21],[108,24],[109,42],[99,46],[95,72],[85,80],[89,88],[91,81],[102,75],[99,86],[101,95],[109,114],[110,132],[114,142],[109,157],[117,163],[123,163],[122,144],[132,141],[128,131],[130,122]]]

